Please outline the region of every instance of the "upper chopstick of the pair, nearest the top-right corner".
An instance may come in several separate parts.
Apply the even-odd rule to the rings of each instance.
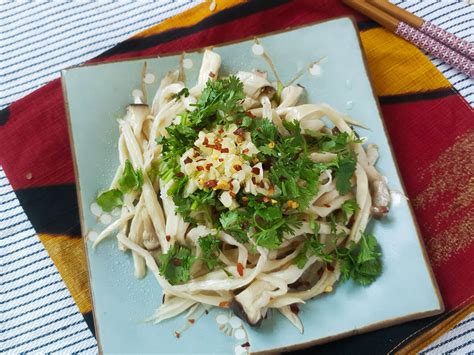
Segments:
[[[412,13],[398,7],[397,5],[391,4],[387,0],[367,1],[370,4],[378,7],[380,10],[390,14],[391,16],[436,39],[438,42],[441,42],[444,45],[453,48],[456,52],[461,53],[462,55],[468,57],[471,60],[474,59],[473,43],[463,40],[462,38],[459,38],[454,34],[449,33],[443,30],[442,28],[436,26],[434,23],[425,21],[422,18],[419,18],[418,16],[415,16]]]

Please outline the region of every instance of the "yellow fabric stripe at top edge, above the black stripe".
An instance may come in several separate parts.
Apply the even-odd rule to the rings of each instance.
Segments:
[[[156,35],[158,33],[164,32],[172,28],[179,27],[189,27],[195,25],[198,22],[201,22],[206,17],[211,16],[219,11],[233,7],[240,3],[246,2],[246,0],[225,0],[225,1],[216,1],[216,8],[214,11],[210,10],[210,2],[205,1],[185,12],[182,12],[176,16],[173,16],[155,26],[152,26],[132,38],[143,38],[151,35]]]

